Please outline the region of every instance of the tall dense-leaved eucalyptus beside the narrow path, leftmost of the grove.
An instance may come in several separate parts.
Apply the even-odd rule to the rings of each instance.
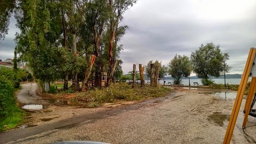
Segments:
[[[57,2],[56,2],[57,3]],[[62,33],[57,4],[49,1],[20,1],[17,10],[17,52],[28,62],[36,78],[41,79],[44,90],[59,78],[58,50]]]

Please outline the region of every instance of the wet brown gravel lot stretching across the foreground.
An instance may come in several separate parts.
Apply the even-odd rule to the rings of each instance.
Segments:
[[[122,113],[91,119],[75,126],[46,131],[9,143],[70,140],[108,143],[222,143],[234,99],[221,99],[213,93],[201,90],[176,91],[165,98],[156,98],[154,102],[138,109],[124,109]],[[245,100],[242,108],[244,102]],[[98,110],[102,109],[106,109],[106,106]],[[65,111],[70,115],[70,111],[73,111],[72,114],[76,115],[87,110],[67,108]],[[61,117],[62,113],[59,115]],[[249,116],[245,132],[241,129],[242,122],[241,112],[231,143],[255,143],[255,118]]]

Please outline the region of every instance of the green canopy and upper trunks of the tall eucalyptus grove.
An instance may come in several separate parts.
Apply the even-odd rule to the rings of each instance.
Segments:
[[[65,90],[71,78],[72,88],[77,90],[79,79],[91,73],[86,69],[94,54],[91,79],[101,87],[102,73],[108,71],[109,85],[114,77],[123,73],[118,56],[123,46],[117,43],[128,27],[118,24],[136,1],[3,0],[0,2],[4,7],[0,10],[0,39],[7,34],[14,14],[21,31],[15,38],[15,52],[20,60],[27,62],[36,78],[47,83],[62,78]]]

